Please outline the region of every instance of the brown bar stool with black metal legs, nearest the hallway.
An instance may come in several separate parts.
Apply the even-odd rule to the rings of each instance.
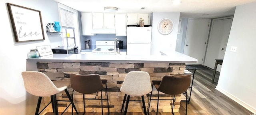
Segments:
[[[169,95],[174,95],[174,99],[172,101],[172,115],[174,115],[173,108],[174,108],[174,101],[175,101],[175,95],[179,95],[181,93],[187,95],[187,89],[190,87],[190,82],[191,82],[191,75],[164,75],[161,81],[152,81],[152,89],[153,85],[156,87],[158,91],[158,98],[157,98],[157,109],[156,109],[156,115],[158,114],[158,102],[159,100],[159,91],[162,93],[166,93]],[[152,91],[153,92],[153,91]],[[151,95],[152,95],[151,92]],[[150,95],[150,101],[148,108],[150,107],[150,102],[151,100],[151,95]],[[172,100],[172,99],[170,99]],[[187,103],[188,103],[188,98],[186,98],[186,115],[187,115]]]

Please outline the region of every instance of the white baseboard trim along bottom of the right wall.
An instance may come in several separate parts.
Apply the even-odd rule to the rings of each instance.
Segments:
[[[256,114],[256,109],[250,107],[249,105],[247,105],[246,103],[244,103],[243,101],[241,101],[240,99],[237,99],[236,97],[234,97],[233,95],[231,95],[230,93],[222,90],[221,88],[219,88],[218,86],[216,86],[215,88],[216,90],[220,91],[221,93],[223,93],[224,95],[228,96],[230,99],[236,101],[236,103],[242,105],[244,108],[248,109],[249,111],[251,111],[252,113]]]

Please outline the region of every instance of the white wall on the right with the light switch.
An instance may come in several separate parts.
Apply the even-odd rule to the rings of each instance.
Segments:
[[[237,6],[216,89],[256,113],[256,2]],[[230,52],[236,46],[236,52]]]

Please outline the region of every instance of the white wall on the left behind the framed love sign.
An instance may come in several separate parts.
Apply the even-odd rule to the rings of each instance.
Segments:
[[[15,42],[6,3],[40,10],[45,40]],[[62,38],[46,33],[46,25],[59,21],[57,2],[53,0],[0,0],[0,115],[33,115],[38,97],[26,93],[22,71],[26,71],[27,53],[36,46],[62,46]]]

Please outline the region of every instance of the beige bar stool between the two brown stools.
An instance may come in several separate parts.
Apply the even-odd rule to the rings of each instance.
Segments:
[[[130,71],[129,73],[127,73],[126,77],[124,78],[124,82],[122,84],[120,91],[125,93],[124,100],[122,103],[122,109],[123,109],[124,102],[126,101],[124,115],[126,115],[126,113],[127,113],[130,96],[141,96],[144,114],[147,115],[144,95],[146,95],[147,93],[150,93],[150,91],[152,91],[151,83],[150,83],[150,76],[147,72],[145,72],[145,71]],[[127,100],[126,100],[126,96],[127,96]],[[122,109],[121,109],[121,112],[122,112]]]

